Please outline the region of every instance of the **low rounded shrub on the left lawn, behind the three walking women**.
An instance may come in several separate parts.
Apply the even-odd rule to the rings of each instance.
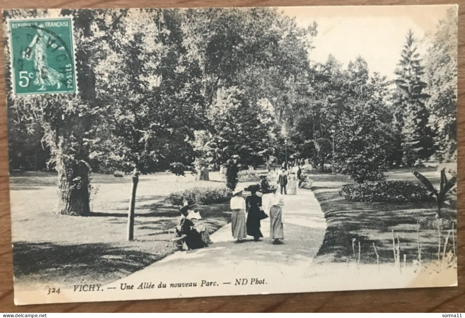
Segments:
[[[194,187],[173,192],[168,195],[165,201],[172,205],[182,205],[184,201],[208,205],[223,203],[232,196],[232,191],[226,187]]]

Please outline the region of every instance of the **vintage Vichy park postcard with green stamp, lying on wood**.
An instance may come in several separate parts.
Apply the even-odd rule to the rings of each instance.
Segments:
[[[15,303],[456,286],[457,14],[3,11]]]

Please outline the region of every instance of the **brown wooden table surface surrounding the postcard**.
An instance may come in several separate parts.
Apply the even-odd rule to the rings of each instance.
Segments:
[[[125,8],[205,6],[424,5],[444,0],[0,0],[0,8]],[[458,287],[355,292],[315,292],[192,299],[15,306],[8,193],[7,118],[3,45],[0,51],[0,312],[464,312],[465,227],[464,12],[458,1]],[[3,34],[3,32],[1,32]]]

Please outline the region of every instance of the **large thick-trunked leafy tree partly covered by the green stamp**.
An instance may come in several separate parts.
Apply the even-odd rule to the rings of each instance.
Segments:
[[[69,13],[64,10],[63,14]],[[77,95],[8,96],[7,103],[22,123],[29,128],[39,125],[43,130],[41,142],[50,150],[49,165],[58,172],[60,214],[88,215],[90,213],[89,143],[96,112],[93,109],[95,92],[89,79],[87,49],[98,39],[91,39],[90,11],[75,11],[74,38],[80,93]],[[18,18],[20,11],[4,11],[4,17]],[[33,10],[34,17],[46,16],[46,10]],[[8,70],[7,72],[9,72]],[[7,76],[9,81],[9,76]],[[7,83],[11,85],[11,83]],[[40,131],[40,130],[39,130]]]

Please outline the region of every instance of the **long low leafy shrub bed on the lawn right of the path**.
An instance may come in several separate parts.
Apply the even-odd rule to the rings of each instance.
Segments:
[[[348,201],[362,202],[418,202],[433,201],[420,184],[404,181],[375,181],[345,184],[339,195]]]

